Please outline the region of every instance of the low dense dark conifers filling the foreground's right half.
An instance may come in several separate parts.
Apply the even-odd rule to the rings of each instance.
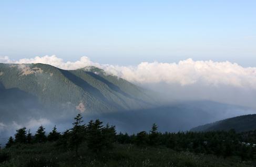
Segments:
[[[239,156],[241,160],[256,160],[256,131],[236,133],[230,131],[209,132],[178,132],[160,133],[156,131],[156,124],[147,133],[142,131],[137,135],[119,133],[118,143],[133,143],[140,147],[159,147],[161,145],[176,151],[190,151],[194,153],[214,154],[227,158]]]

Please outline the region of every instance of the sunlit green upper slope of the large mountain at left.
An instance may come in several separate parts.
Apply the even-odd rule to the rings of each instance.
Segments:
[[[18,89],[45,107],[101,113],[144,109],[155,104],[148,92],[96,67],[62,70],[45,64],[0,64],[4,89]]]

